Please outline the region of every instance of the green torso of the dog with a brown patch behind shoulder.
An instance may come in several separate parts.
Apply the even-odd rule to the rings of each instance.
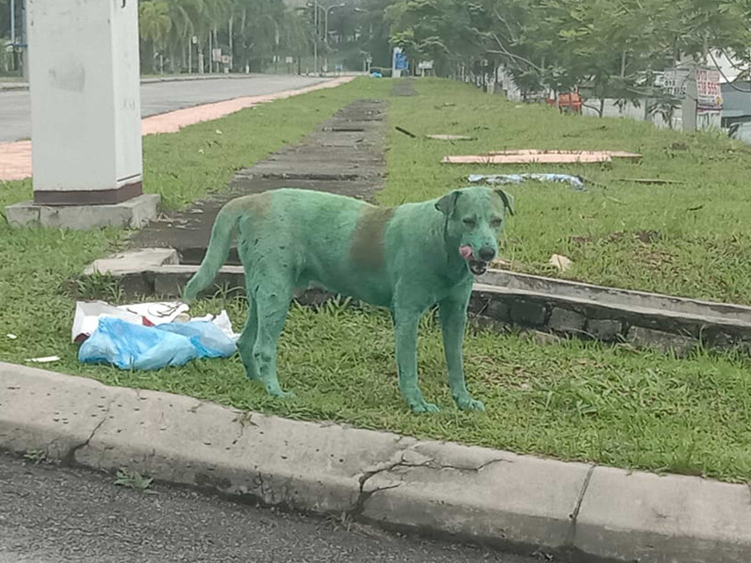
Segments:
[[[386,208],[279,189],[232,205],[240,212],[238,250],[253,278],[282,269],[297,288],[320,285],[385,307],[402,288],[418,309],[472,283],[463,260],[447,252],[442,215],[430,203]]]

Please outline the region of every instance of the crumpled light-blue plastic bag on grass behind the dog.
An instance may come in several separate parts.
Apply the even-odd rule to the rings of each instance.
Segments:
[[[146,370],[184,366],[195,358],[229,357],[236,349],[219,327],[206,321],[143,327],[102,317],[97,330],[79,348],[78,360]]]

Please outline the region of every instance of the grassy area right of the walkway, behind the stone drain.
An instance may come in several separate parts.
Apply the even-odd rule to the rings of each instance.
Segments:
[[[523,272],[557,275],[547,261],[574,261],[565,277],[602,285],[751,305],[751,147],[718,134],[658,131],[631,119],[560,115],[514,104],[472,86],[419,80],[420,95],[391,98],[389,122],[422,136],[468,134],[473,141],[412,139],[391,128],[383,203],[436,197],[469,173],[566,172],[591,180],[508,185],[517,216],[505,233],[507,260]],[[444,105],[444,104],[455,105]],[[500,149],[611,149],[641,163],[578,165],[439,164],[442,156]],[[619,178],[681,180],[674,185]],[[635,234],[641,233],[641,242]]]

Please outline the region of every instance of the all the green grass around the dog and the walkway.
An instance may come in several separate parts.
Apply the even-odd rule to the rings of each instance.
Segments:
[[[294,142],[306,128],[309,130],[348,100],[388,98],[390,86],[388,80],[357,80],[342,89],[274,102],[177,134],[146,137],[146,190],[161,190],[170,206],[185,205],[221,188],[237,167],[263,158],[284,141]],[[716,245],[721,248],[723,237],[729,233],[735,233],[739,237],[737,245],[742,246],[742,224],[733,224],[728,217],[740,218],[742,213],[739,170],[748,166],[749,156],[725,140],[653,131],[626,121],[557,116],[535,107],[516,109],[498,97],[454,83],[421,81],[418,88],[418,97],[389,98],[391,125],[402,125],[420,134],[470,132],[481,135],[481,139],[451,146],[411,140],[392,129],[388,139],[390,176],[387,188],[380,194],[385,203],[419,200],[461,185],[463,174],[475,169],[438,164],[440,156],[448,152],[605,145],[608,149],[641,150],[644,163],[566,168],[608,185],[584,193],[569,191],[563,185],[514,188],[518,215],[510,224],[509,257],[528,264],[532,271],[543,271],[542,264],[549,253],[562,251],[576,261],[577,276],[595,281],[613,276],[617,285],[640,287],[642,283],[659,281],[655,279],[659,272],[647,275],[642,266],[626,266],[642,243],[627,236],[613,237],[613,242],[607,243],[595,242],[594,237],[618,230],[659,230],[665,239],[645,246],[651,250],[665,245],[674,264],[689,260],[689,250],[698,251],[692,245],[710,231],[716,233]],[[447,101],[457,105],[442,106]],[[487,110],[478,113],[482,107]],[[299,126],[295,128],[291,122]],[[216,134],[217,129],[222,135]],[[596,138],[588,136],[590,130]],[[677,156],[668,158],[665,146],[671,143],[685,143],[687,149],[676,149]],[[725,155],[731,146],[737,151],[733,158],[740,163],[731,170],[738,177],[731,176],[724,167],[710,164],[714,173],[725,173],[722,182],[710,183],[711,175],[701,176],[707,179],[705,185],[684,170],[692,167],[695,174],[704,174],[696,162],[698,155],[711,163],[710,156]],[[656,147],[662,149],[655,155]],[[618,175],[657,173],[680,177],[687,183],[645,188],[611,182]],[[684,194],[684,190],[688,193]],[[0,205],[30,195],[29,182],[0,186]],[[652,204],[644,206],[643,200]],[[682,206],[699,205],[704,208],[697,212],[694,222],[675,218]],[[587,223],[580,215],[595,218]],[[716,224],[710,229],[711,217]],[[590,230],[584,230],[585,224]],[[544,229],[538,229],[543,225]],[[582,257],[589,254],[576,254],[577,248],[566,246],[572,233],[593,237],[593,242],[582,246],[591,246],[587,252],[593,255],[592,260]],[[456,440],[559,459],[700,474],[737,482],[751,480],[751,360],[741,355],[698,350],[686,360],[677,360],[596,343],[572,341],[540,346],[514,334],[470,331],[466,338],[468,384],[472,393],[484,400],[487,412],[467,414],[451,404],[440,333],[436,320],[427,317],[419,339],[421,387],[428,400],[439,403],[442,412],[415,416],[409,413],[397,389],[388,315],[375,309],[346,309],[331,304],[319,312],[294,307],[289,315],[279,342],[279,374],[282,386],[295,391],[295,399],[268,397],[260,384],[246,381],[237,357],[201,360],[156,372],[80,365],[76,360],[77,347],[69,343],[73,301],[59,288],[86,263],[120,244],[122,231],[117,230],[11,233],[0,225],[0,260],[4,264],[0,270],[0,358],[24,363],[29,357],[57,354],[62,360],[47,366],[50,369],[107,384],[211,399],[237,408],[301,419],[343,421],[420,438]],[[702,251],[703,256],[709,252],[706,248]],[[607,260],[602,257],[605,255]],[[715,268],[721,270],[718,276],[727,276],[731,271],[728,264],[733,260],[722,259],[721,255],[715,259]],[[600,257],[600,266],[596,267],[595,257]],[[742,262],[740,256],[736,260]],[[629,278],[624,272],[634,275]],[[713,280],[719,277],[704,279],[695,272],[691,275],[697,285],[685,282],[681,287],[693,290],[693,294],[707,291],[713,297],[722,295],[712,285],[717,285]],[[683,283],[665,274],[665,282],[668,281]],[[726,289],[747,294],[743,289],[747,281],[734,283]],[[106,280],[95,281],[94,285],[99,286],[100,292],[109,291]],[[663,285],[662,289],[669,288]],[[109,291],[109,296],[111,300],[119,298],[116,291]],[[197,303],[192,312],[201,315],[222,308],[228,309],[236,327],[243,323],[246,309],[242,300],[216,297]],[[19,338],[6,339],[5,333]]]

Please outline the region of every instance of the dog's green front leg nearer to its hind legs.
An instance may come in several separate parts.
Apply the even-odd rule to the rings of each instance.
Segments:
[[[438,407],[423,399],[418,387],[418,324],[422,311],[395,306],[391,310],[394,319],[394,339],[397,343],[397,369],[399,390],[412,412],[438,412]]]

